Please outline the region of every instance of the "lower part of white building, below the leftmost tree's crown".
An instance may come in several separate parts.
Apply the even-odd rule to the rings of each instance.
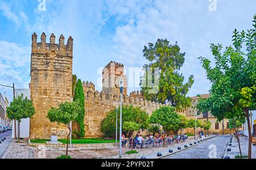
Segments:
[[[14,121],[11,137],[14,138]],[[16,137],[18,137],[18,121],[16,121]],[[30,137],[30,118],[23,118],[20,122],[20,138]]]

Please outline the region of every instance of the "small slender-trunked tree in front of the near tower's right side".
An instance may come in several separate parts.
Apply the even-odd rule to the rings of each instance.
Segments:
[[[69,130],[69,134],[67,135],[66,158],[68,158],[68,138],[71,134],[70,122],[75,121],[80,112],[80,101],[77,100],[72,103],[65,101],[56,108],[51,107],[47,114],[49,121],[64,124]]]

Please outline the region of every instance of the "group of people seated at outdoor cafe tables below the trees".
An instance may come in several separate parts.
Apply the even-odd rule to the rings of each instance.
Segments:
[[[161,133],[155,133],[153,134],[148,134],[146,137],[142,137],[141,131],[138,131],[137,134],[135,135],[135,138],[133,138],[133,142],[131,142],[131,138],[129,138],[129,146],[133,147],[140,145],[143,147],[143,145],[154,145],[154,146],[159,146],[159,144],[162,146],[163,144],[163,139],[164,135]],[[166,136],[166,144],[170,145],[171,143],[180,143],[180,142],[185,142],[188,139],[188,135],[185,134],[170,134]],[[124,134],[122,134],[122,146],[126,146],[126,143],[128,142],[128,139],[125,137]]]

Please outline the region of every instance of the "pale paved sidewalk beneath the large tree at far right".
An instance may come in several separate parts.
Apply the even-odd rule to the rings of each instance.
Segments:
[[[248,155],[248,139],[245,136],[240,137],[240,146],[242,155]],[[240,155],[238,142],[236,137],[233,135],[232,146],[228,146],[227,148],[231,148],[231,151],[226,151],[225,156],[229,156],[230,159],[235,159],[236,155]],[[251,158],[256,159],[256,146],[251,145]]]

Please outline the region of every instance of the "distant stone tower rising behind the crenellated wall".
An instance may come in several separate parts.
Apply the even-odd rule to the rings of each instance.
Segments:
[[[110,61],[102,71],[102,91],[106,94],[120,96],[119,80],[123,78],[123,95],[127,95],[127,77],[124,74],[123,64]]]

